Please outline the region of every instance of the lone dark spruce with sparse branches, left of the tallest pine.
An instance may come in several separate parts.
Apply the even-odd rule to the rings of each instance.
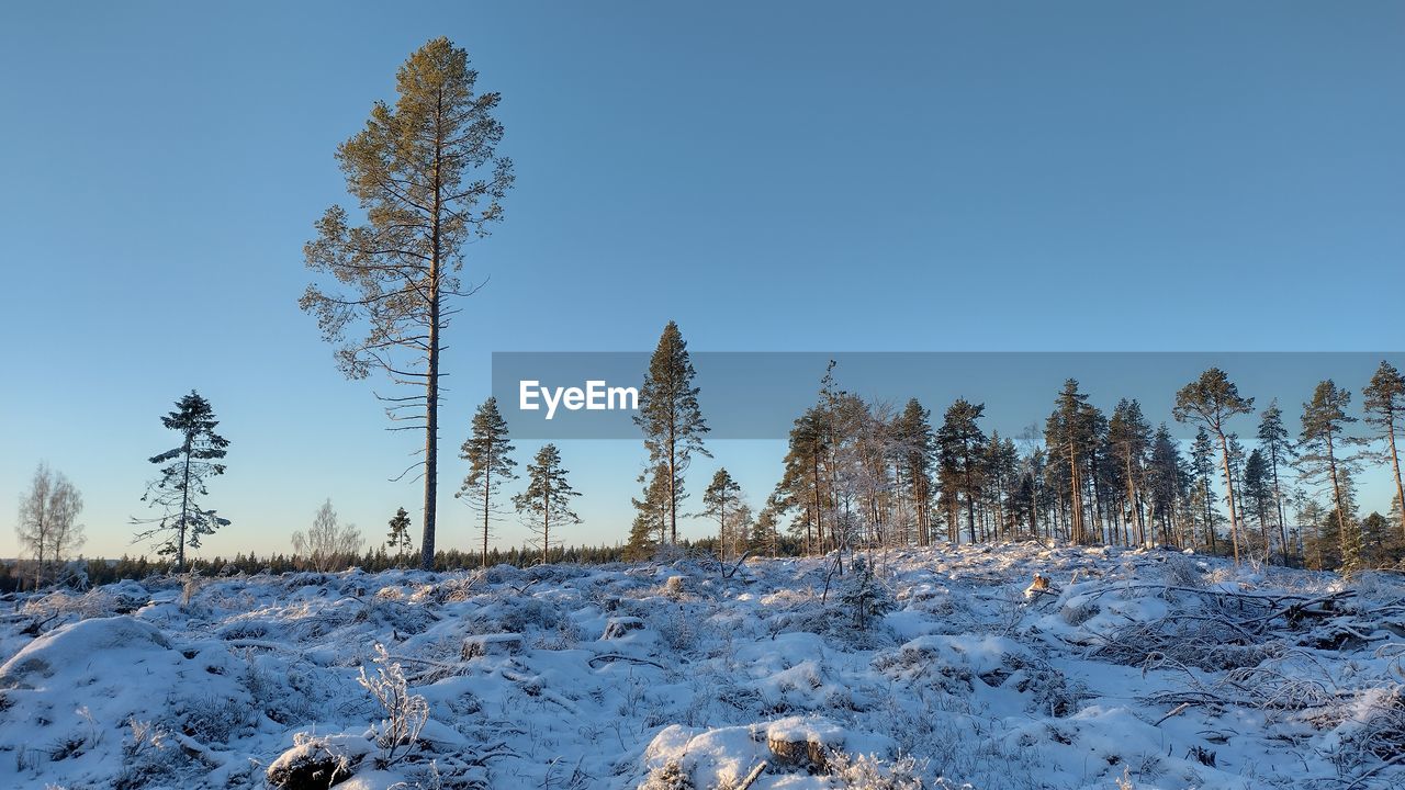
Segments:
[[[176,402],[176,410],[162,417],[162,425],[180,434],[176,447],[152,455],[153,464],[166,464],[160,477],[146,486],[142,502],[160,507],[155,519],[132,519],[132,524],[148,526],[133,541],[156,541],[156,552],[176,555],[176,571],[185,569],[185,548],[200,548],[202,536],[229,526],[229,519],[204,510],[200,498],[208,496],[207,481],[225,474],[219,462],[228,454],[229,440],[215,433],[219,420],[209,401],[195,391]],[[155,526],[152,526],[155,524]]]

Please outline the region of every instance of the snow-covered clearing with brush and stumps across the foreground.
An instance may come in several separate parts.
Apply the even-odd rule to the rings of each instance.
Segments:
[[[1405,786],[1397,575],[1034,544],[875,554],[828,595],[822,559],[731,571],[21,599],[0,787]]]

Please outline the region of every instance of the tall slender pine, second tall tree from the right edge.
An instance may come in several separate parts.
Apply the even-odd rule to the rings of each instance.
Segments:
[[[1312,401],[1302,405],[1302,457],[1298,460],[1304,475],[1331,484],[1333,517],[1340,541],[1342,572],[1346,575],[1360,569],[1360,531],[1352,507],[1350,472],[1354,457],[1343,454],[1352,444],[1359,444],[1346,434],[1346,426],[1356,417],[1346,413],[1352,392],[1339,388],[1331,378],[1318,382]]]

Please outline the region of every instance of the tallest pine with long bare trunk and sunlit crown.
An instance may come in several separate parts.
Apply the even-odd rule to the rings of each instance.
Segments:
[[[423,430],[424,534],[420,565],[434,566],[438,484],[440,351],[461,285],[464,245],[502,219],[513,183],[511,160],[496,153],[503,127],[493,117],[499,94],[475,93],[468,53],[436,38],[396,73],[395,105],[377,101],[362,131],[337,148],[347,191],[364,225],[341,207],[318,221],[306,264],[350,292],[309,285],[299,305],[318,318],[322,336],[339,343],[337,365],[348,378],[372,370],[422,394],[381,396],[396,430]],[[347,332],[365,330],[347,340]],[[413,468],[413,467],[412,467]]]

